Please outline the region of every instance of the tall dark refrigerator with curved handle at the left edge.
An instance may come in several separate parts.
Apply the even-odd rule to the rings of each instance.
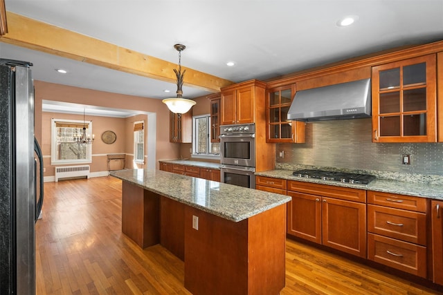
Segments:
[[[35,294],[35,222],[43,203],[32,64],[0,59],[0,294]],[[38,180],[38,181],[37,181]]]

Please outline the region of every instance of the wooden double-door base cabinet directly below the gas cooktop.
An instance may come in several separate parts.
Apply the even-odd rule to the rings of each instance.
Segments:
[[[287,234],[366,258],[366,192],[288,181]]]

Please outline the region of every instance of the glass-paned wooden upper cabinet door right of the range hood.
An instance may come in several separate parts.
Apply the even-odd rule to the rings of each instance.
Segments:
[[[435,55],[372,68],[372,142],[436,142]]]

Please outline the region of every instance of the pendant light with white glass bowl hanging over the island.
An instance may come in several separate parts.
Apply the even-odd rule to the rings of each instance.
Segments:
[[[191,99],[183,98],[183,91],[181,88],[183,87],[183,77],[186,73],[186,70],[183,70],[181,73],[181,52],[185,50],[186,46],[181,44],[175,44],[174,48],[179,52],[179,70],[174,68],[175,75],[177,75],[177,97],[174,98],[166,98],[163,99],[163,104],[166,104],[172,113],[176,114],[184,114],[187,113],[192,106],[196,104],[195,101]]]

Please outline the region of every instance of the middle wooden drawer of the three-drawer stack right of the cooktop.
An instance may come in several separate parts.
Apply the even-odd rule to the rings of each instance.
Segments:
[[[426,246],[426,214],[368,204],[368,231]]]

